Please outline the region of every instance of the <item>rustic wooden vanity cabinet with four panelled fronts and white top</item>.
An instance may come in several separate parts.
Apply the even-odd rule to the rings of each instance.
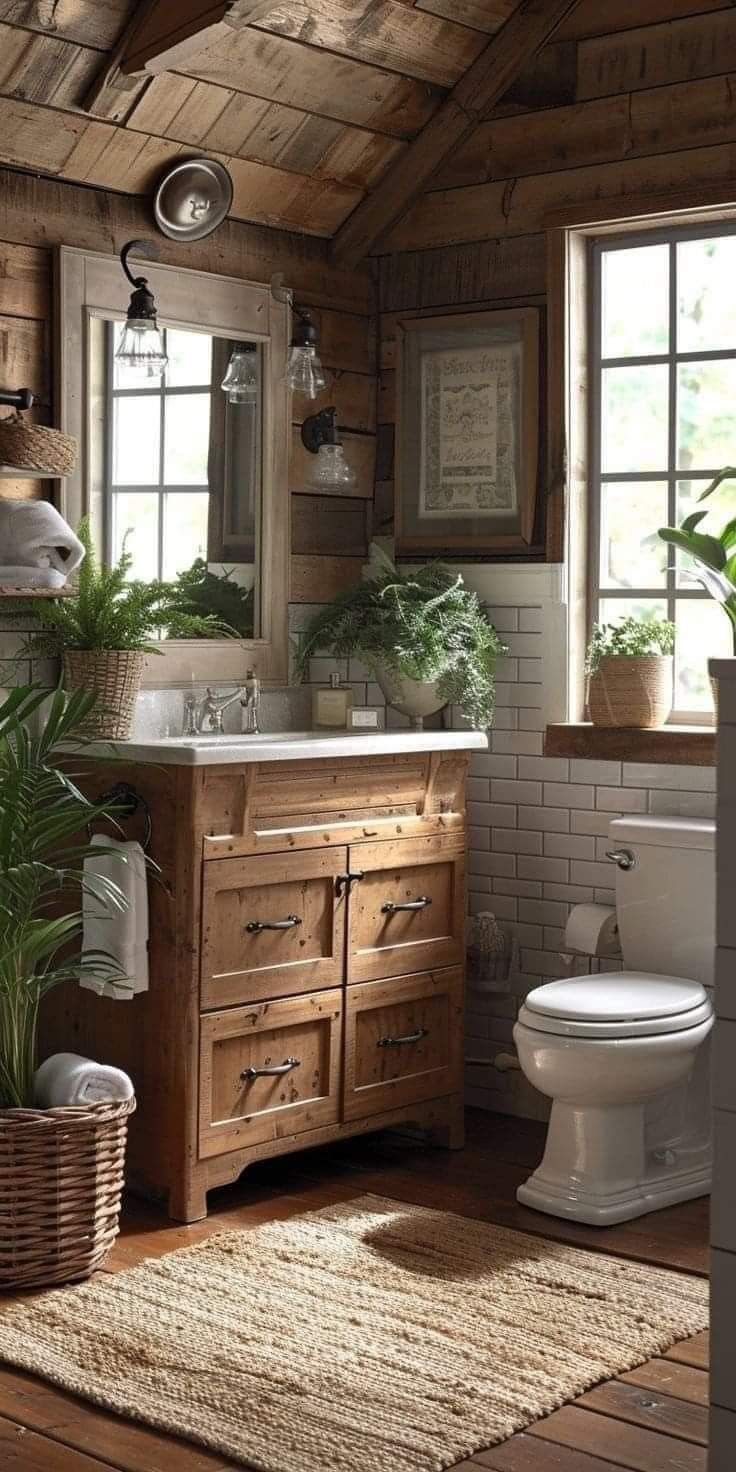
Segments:
[[[43,1055],[131,1073],[128,1179],[172,1217],[205,1216],[253,1160],[346,1135],[412,1123],[462,1144],[464,793],[484,743],[90,764],[90,795],[122,779],[150,807],[150,989],[52,995]]]

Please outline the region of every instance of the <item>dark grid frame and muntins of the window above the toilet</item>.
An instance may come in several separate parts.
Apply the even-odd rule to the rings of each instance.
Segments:
[[[674,621],[676,605],[684,602],[711,602],[710,595],[701,587],[677,586],[676,549],[668,548],[667,576],[662,587],[633,587],[608,589],[601,587],[601,534],[602,534],[602,489],[609,483],[665,483],[667,484],[667,526],[677,524],[677,484],[683,480],[702,481],[702,489],[714,478],[721,467],[707,467],[695,473],[677,468],[677,381],[679,367],[687,362],[720,362],[735,361],[733,349],[677,352],[677,246],[687,240],[712,240],[721,236],[736,236],[736,221],[707,222],[699,221],[690,225],[651,225],[642,230],[623,230],[614,234],[611,230],[602,234],[590,234],[587,238],[587,380],[589,380],[589,424],[587,424],[587,634],[598,617],[602,599],[615,604],[633,598],[661,599],[665,604],[665,617]],[[668,247],[668,349],[664,353],[639,353],[626,358],[604,358],[602,355],[602,266],[604,256],[618,250],[631,250],[639,246]],[[668,372],[668,424],[667,424],[667,467],[657,471],[604,471],[601,456],[602,430],[602,374],[606,368],[615,367],[649,367],[662,365]],[[673,708],[668,724],[671,726],[712,726],[711,711],[689,708]]]

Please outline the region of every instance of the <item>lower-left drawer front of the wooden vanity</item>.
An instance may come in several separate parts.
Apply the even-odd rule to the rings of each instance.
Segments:
[[[342,997],[318,992],[202,1017],[200,1158],[339,1122]]]

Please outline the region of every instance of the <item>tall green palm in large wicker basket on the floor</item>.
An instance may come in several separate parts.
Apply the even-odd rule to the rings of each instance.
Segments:
[[[121,979],[109,957],[81,954],[82,864],[100,852],[87,826],[115,811],[88,802],[69,771],[93,696],[56,690],[34,735],[47,701],[19,686],[0,704],[0,1288],[66,1282],[100,1264],[118,1232],[135,1107],[34,1107],[44,997],[87,970]],[[94,896],[124,905],[102,876]]]

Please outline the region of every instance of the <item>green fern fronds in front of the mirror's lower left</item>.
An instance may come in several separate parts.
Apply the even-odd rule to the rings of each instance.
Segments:
[[[125,546],[113,567],[100,562],[87,517],[77,534],[85,548],[77,595],[43,602],[31,598],[19,609],[32,612],[41,626],[29,640],[29,654],[60,655],[65,649],[155,654],[150,640],[159,630],[171,639],[222,639],[233,633],[212,614],[193,612],[183,605],[181,595],[169,583],[128,581],[132,558]]]

